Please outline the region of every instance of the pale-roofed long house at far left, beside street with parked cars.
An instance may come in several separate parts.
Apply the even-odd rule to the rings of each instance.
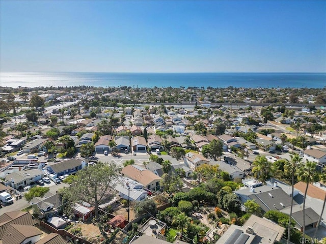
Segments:
[[[40,169],[21,170],[6,175],[7,185],[14,189],[22,189],[25,186],[34,184],[44,177],[44,171]]]

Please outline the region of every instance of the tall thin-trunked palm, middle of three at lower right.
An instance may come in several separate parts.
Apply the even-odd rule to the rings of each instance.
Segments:
[[[308,192],[308,186],[309,183],[318,181],[319,175],[316,172],[316,166],[317,164],[315,162],[308,161],[306,163],[301,163],[300,167],[298,168],[296,174],[297,178],[300,181],[306,182],[306,190],[305,190],[305,195],[304,195],[304,205],[303,205],[303,219],[304,219],[304,224],[303,224],[303,238],[305,238],[305,230],[306,230],[306,213],[305,213],[305,207],[306,207],[306,197],[307,197],[307,192]]]

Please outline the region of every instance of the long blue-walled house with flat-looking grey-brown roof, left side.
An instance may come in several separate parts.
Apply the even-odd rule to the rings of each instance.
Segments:
[[[54,174],[57,177],[65,174],[74,174],[78,170],[83,169],[87,164],[87,161],[81,159],[69,159],[59,163],[52,163],[46,166],[46,170],[50,174]]]

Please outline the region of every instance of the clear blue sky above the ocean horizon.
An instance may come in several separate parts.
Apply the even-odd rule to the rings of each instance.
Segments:
[[[326,1],[0,1],[1,72],[325,72]]]

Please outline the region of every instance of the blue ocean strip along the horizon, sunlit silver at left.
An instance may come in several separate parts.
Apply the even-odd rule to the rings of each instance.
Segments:
[[[323,88],[326,73],[95,73],[1,72],[2,87],[294,87]]]

